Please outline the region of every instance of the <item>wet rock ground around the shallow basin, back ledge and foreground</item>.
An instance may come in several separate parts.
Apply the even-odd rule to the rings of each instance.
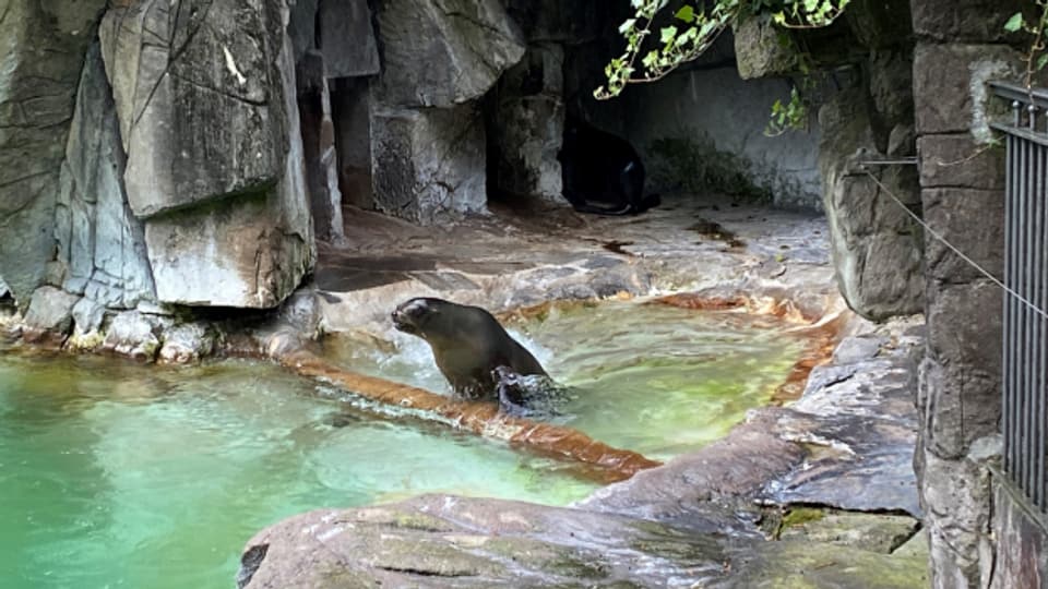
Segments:
[[[672,199],[627,219],[502,213],[440,230],[350,212],[353,249],[321,252],[325,328],[381,341],[390,301],[414,296],[491,311],[663,289],[793,299],[811,317],[841,305],[818,217]],[[735,240],[696,231],[700,220]],[[855,317],[845,333],[800,399],[571,508],[441,495],[303,514],[249,542],[240,586],[920,586],[920,321]],[[790,520],[800,508],[818,517]]]

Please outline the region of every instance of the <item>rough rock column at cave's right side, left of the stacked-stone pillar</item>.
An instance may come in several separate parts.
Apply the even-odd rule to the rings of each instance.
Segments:
[[[880,10],[883,8],[884,10]],[[837,285],[871,320],[924,310],[913,107],[913,31],[906,0],[849,5],[848,38],[867,51],[854,79],[819,111],[819,167]],[[866,164],[872,161],[872,164]]]

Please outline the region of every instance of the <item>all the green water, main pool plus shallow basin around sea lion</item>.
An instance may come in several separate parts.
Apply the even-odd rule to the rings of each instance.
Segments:
[[[803,345],[781,327],[633,302],[511,323],[577,387],[567,424],[659,459],[767,401]],[[393,350],[336,339],[327,353],[446,390],[426,344],[393,337]],[[264,362],[0,356],[5,589],[225,589],[248,538],[283,517],[427,491],[564,505],[595,489],[570,472],[442,424],[357,412]]]

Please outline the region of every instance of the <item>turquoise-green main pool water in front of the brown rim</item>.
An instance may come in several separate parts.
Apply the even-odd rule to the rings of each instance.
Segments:
[[[441,425],[347,412],[264,363],[0,356],[4,589],[228,589],[245,542],[296,513],[426,491],[567,504],[592,490]]]

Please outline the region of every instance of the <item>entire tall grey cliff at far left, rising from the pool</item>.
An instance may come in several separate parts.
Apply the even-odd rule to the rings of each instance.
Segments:
[[[269,309],[299,286],[314,245],[283,0],[5,10],[0,275],[26,338],[94,349],[127,324],[152,357],[172,305]]]

